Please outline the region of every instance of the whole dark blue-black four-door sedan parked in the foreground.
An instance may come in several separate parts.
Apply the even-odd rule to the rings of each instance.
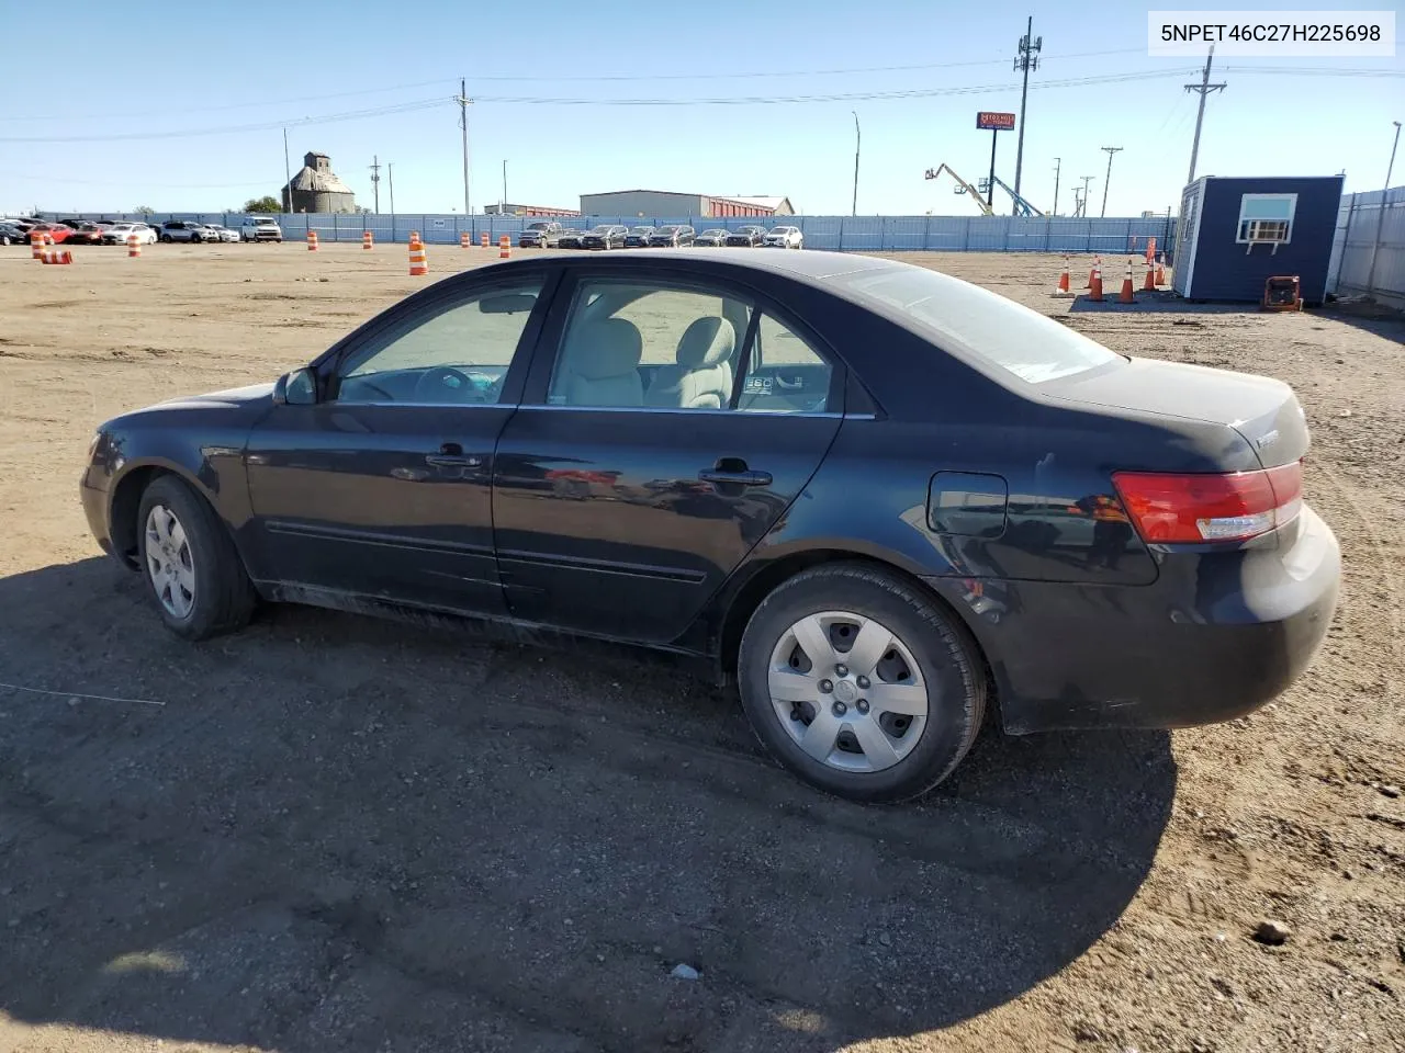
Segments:
[[[1021,734],[1281,692],[1340,569],[1307,449],[1277,380],[721,249],[447,278],[275,383],[103,424],[81,496],[180,636],[264,600],[645,644],[735,678],[799,776],[894,800],[988,705]]]

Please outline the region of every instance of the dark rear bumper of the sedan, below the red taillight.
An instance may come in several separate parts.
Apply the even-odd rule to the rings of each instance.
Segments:
[[[1322,644],[1336,538],[1307,507],[1280,534],[1281,548],[1168,555],[1149,585],[927,581],[981,642],[1006,731],[1187,727],[1274,699]]]

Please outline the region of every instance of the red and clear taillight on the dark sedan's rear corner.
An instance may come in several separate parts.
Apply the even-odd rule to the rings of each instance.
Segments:
[[[1302,462],[1228,475],[1114,472],[1142,541],[1245,541],[1291,522],[1302,504]]]

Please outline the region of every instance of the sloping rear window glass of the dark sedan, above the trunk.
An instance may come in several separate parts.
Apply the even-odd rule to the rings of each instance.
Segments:
[[[937,347],[965,352],[1028,383],[1072,376],[1118,359],[1102,344],[1037,310],[937,271],[899,264],[832,281],[860,299],[892,309],[899,323]]]

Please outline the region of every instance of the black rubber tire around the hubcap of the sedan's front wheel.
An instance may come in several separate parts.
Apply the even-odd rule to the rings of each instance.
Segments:
[[[180,521],[190,548],[195,595],[190,614],[184,618],[176,616],[163,605],[149,571],[146,519],[157,504],[170,508]],[[187,640],[205,640],[249,623],[257,594],[229,531],[205,498],[176,476],[159,476],[142,494],[136,517],[142,580],[146,581],[148,592],[156,601],[156,611],[167,629]]]

